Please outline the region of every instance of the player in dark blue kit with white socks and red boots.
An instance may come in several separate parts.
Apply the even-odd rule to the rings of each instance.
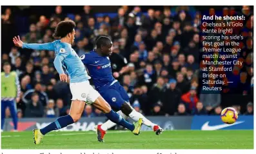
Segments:
[[[150,120],[146,119],[141,113],[135,111],[129,103],[129,96],[124,90],[123,86],[115,80],[112,75],[112,68],[109,56],[112,54],[112,41],[105,36],[99,37],[96,41],[97,48],[89,53],[81,56],[81,60],[88,69],[90,77],[94,81],[95,89],[99,91],[101,96],[110,104],[110,106],[118,110],[122,117],[131,117],[137,121],[143,119],[143,124],[151,127],[156,135],[162,133],[162,128],[157,124],[153,124]],[[127,69],[124,67],[121,71],[125,72]],[[118,76],[118,75],[117,75]],[[106,130],[115,126],[115,123],[108,120],[102,125],[97,126],[98,139],[101,136],[103,140]]]

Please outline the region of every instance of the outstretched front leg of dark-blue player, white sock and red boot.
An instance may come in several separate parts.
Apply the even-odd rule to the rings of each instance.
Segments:
[[[154,124],[150,120],[146,119],[144,115],[141,113],[135,111],[128,102],[124,102],[121,106],[121,111],[124,113],[124,115],[131,117],[133,120],[137,121],[139,119],[143,119],[143,124],[145,124],[148,127],[151,127],[153,131],[155,131],[156,135],[160,135],[162,133],[162,128],[158,126],[157,124]]]

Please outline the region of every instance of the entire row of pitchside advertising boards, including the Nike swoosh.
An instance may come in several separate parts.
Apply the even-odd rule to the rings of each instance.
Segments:
[[[253,116],[239,116],[234,124],[224,124],[219,116],[147,117],[164,130],[253,130]],[[43,128],[55,119],[19,119],[18,131]],[[97,124],[103,124],[105,117],[82,118],[79,122],[57,131],[93,131]],[[131,120],[132,122],[132,120]],[[5,120],[5,131],[12,131],[12,119]],[[142,131],[152,131],[147,126]]]

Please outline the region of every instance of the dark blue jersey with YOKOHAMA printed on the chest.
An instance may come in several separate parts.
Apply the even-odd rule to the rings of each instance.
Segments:
[[[96,90],[103,86],[108,86],[115,81],[109,57],[102,57],[93,50],[82,55],[81,60],[88,69]]]

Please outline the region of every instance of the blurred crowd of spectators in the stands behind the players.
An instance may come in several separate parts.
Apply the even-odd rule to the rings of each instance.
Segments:
[[[48,6],[42,7],[47,10]],[[118,80],[128,91],[130,104],[144,115],[220,115],[226,106],[232,106],[239,114],[253,115],[250,93],[235,97],[199,94],[201,13],[195,7],[148,7],[143,11],[140,6],[120,6],[109,14],[96,14],[95,7],[80,6],[80,13],[72,14],[72,9],[63,13],[64,7],[56,6],[52,15],[26,17],[19,14],[24,8],[2,9],[1,63],[3,66],[8,61],[19,75],[22,91],[17,102],[19,118],[50,118],[69,113],[72,95],[69,85],[59,81],[53,64],[54,51],[25,50],[12,44],[14,35],[20,35],[25,43],[52,42],[55,26],[67,19],[77,24],[72,47],[79,56],[94,49],[99,35],[112,39],[113,52],[124,57],[130,66],[130,72]],[[226,11],[244,14],[245,22],[251,22],[252,32],[253,11],[249,6],[242,7],[246,11],[241,7],[223,7],[223,14]],[[77,12],[75,6],[73,10]],[[119,72],[123,62],[119,63],[117,57],[110,59],[113,72]],[[90,105],[85,106],[83,117],[98,116],[104,115]],[[8,109],[6,117],[10,117]]]

